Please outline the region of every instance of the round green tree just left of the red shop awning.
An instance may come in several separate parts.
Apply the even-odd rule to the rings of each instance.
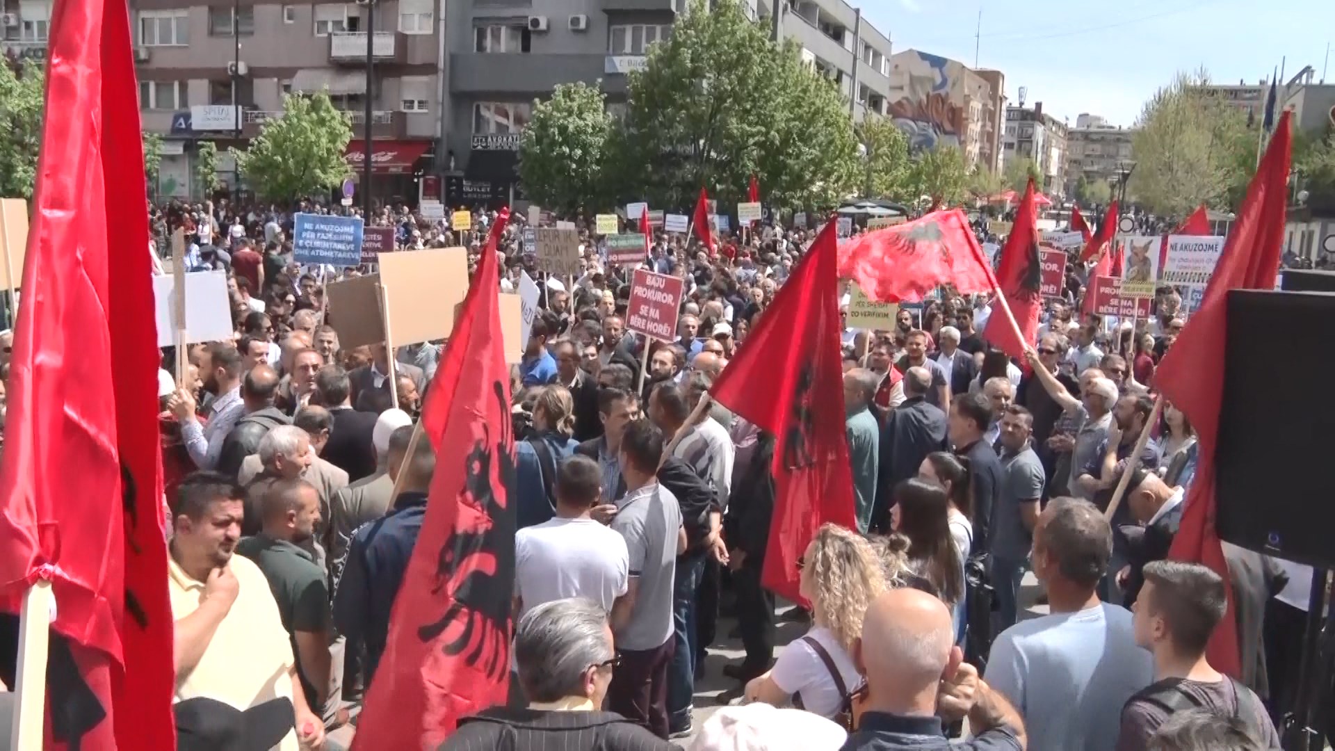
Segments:
[[[266,122],[250,148],[231,152],[260,198],[288,202],[332,188],[348,175],[343,152],[351,138],[347,114],[335,110],[327,94],[290,94],[283,115]]]

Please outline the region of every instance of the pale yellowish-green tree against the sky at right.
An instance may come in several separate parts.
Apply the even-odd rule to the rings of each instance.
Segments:
[[[1155,214],[1185,216],[1202,203],[1231,207],[1255,171],[1256,131],[1240,110],[1208,96],[1208,83],[1206,71],[1180,72],[1140,114],[1127,190]]]

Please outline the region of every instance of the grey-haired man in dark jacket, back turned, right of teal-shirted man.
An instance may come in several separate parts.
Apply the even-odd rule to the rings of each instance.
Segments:
[[[917,477],[926,454],[945,449],[945,413],[926,401],[932,388],[930,371],[925,367],[909,367],[904,374],[904,404],[885,417],[872,529],[889,531],[894,486],[901,480]]]

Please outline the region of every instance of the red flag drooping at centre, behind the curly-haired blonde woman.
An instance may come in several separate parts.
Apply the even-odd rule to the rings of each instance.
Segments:
[[[844,433],[836,223],[780,287],[710,397],[776,437],[761,583],[798,601],[797,559],[822,524],[857,529]],[[817,404],[820,409],[816,409]]]

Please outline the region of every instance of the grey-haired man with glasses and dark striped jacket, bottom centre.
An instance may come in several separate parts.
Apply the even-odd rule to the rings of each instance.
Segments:
[[[597,603],[574,597],[530,609],[515,628],[514,659],[529,707],[493,707],[463,718],[441,751],[677,750],[642,726],[599,710],[618,659],[607,612]]]

